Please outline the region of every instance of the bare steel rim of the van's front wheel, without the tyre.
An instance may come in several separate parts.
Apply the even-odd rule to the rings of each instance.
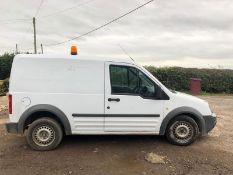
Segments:
[[[188,122],[179,121],[174,125],[173,133],[180,140],[188,140],[193,135],[192,126]]]

